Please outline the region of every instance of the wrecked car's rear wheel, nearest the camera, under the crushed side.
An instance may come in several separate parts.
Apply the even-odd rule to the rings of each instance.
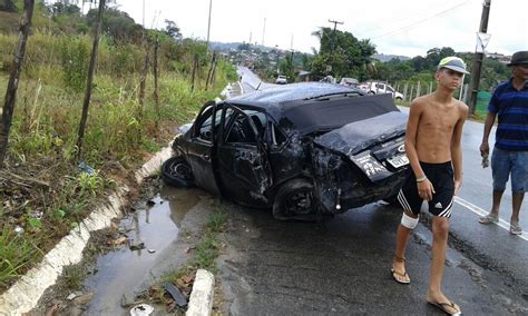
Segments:
[[[306,179],[293,179],[278,189],[273,203],[273,217],[277,220],[315,220],[319,201],[315,190]]]

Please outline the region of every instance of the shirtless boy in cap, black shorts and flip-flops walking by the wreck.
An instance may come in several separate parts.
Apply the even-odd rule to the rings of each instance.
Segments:
[[[391,269],[395,282],[411,282],[405,271],[405,246],[411,230],[418,225],[423,200],[427,200],[433,237],[427,302],[449,315],[461,313],[460,307],[442,293],[441,285],[453,196],[462,185],[460,140],[468,106],[454,99],[453,91],[463,82],[465,73],[469,72],[460,58],[442,59],[434,73],[437,90],[411,102],[405,151],[412,172],[398,195],[403,216],[397,231]]]

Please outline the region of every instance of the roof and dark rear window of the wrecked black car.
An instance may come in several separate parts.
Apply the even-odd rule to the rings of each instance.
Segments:
[[[292,83],[224,102],[262,109],[280,126],[301,134],[327,131],[352,121],[399,111],[390,95],[366,96],[359,89],[326,82]]]

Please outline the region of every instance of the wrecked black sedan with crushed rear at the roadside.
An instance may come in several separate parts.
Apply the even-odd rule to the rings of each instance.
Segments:
[[[394,199],[409,169],[405,125],[390,95],[322,82],[255,91],[206,103],[176,136],[163,178],[314,219]]]

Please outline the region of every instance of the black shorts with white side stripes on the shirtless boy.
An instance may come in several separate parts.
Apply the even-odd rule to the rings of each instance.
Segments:
[[[434,216],[451,217],[454,196],[454,172],[451,161],[442,164],[420,162],[420,166],[434,188],[432,200],[429,201],[429,213]],[[417,178],[412,170],[398,194],[398,200],[404,210],[415,215],[420,214],[423,199],[418,195]]]

